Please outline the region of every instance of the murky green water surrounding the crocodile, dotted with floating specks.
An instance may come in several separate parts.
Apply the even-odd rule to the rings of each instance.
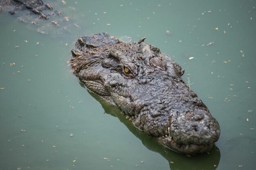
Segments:
[[[45,35],[0,13],[0,170],[255,169],[256,0],[54,5],[79,28]],[[97,32],[147,37],[185,69],[183,80],[220,123],[209,153],[187,157],[160,146],[81,87],[70,50]]]

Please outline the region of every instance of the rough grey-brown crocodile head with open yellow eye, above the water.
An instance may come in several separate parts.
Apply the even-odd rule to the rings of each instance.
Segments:
[[[209,151],[220,137],[218,121],[184,83],[181,66],[145,39],[79,37],[71,50],[73,73],[160,144],[182,154]]]

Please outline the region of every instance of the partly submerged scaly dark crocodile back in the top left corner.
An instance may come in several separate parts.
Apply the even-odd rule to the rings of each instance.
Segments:
[[[79,29],[79,24],[76,24],[77,17],[72,15],[74,8],[67,8],[65,4],[64,0],[0,0],[0,12],[17,17],[27,24],[27,28],[38,33],[52,37],[65,34],[67,37],[67,33],[74,31],[74,28]],[[66,16],[66,13],[71,16]]]

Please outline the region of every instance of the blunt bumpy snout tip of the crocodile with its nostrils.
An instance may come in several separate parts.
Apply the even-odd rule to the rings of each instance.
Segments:
[[[211,149],[220,137],[220,127],[209,111],[195,109],[187,113],[173,112],[168,136],[160,143],[180,153],[195,154]]]

